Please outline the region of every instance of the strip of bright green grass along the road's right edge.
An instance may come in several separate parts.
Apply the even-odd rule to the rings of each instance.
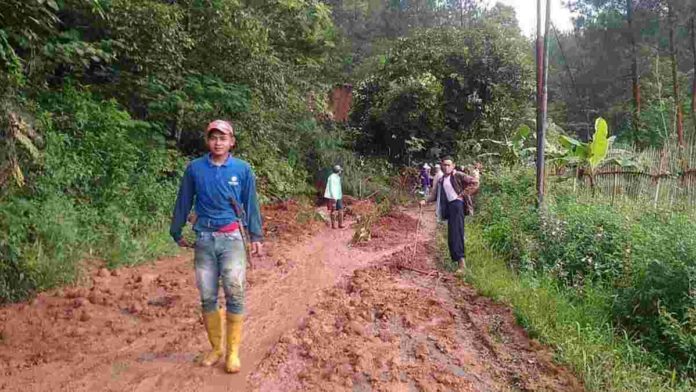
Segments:
[[[446,241],[438,237],[445,253]],[[579,303],[550,279],[512,272],[504,258],[487,249],[477,223],[467,227],[467,264],[467,282],[511,306],[530,337],[554,348],[556,360],[577,374],[587,390],[693,390],[690,381],[679,381],[653,354],[614,333],[609,298],[600,289],[591,289]]]

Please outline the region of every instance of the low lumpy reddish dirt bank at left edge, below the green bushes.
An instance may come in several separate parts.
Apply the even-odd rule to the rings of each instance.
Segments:
[[[42,293],[29,304],[3,308],[0,374],[12,376],[38,365],[56,370],[55,363],[96,355],[105,347],[127,347],[166,331],[167,324],[198,329],[197,294],[187,272],[149,266],[101,269],[88,286]],[[153,347],[167,343],[159,339]]]

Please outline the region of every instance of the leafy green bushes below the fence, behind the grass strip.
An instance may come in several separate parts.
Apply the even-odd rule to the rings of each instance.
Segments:
[[[604,290],[605,317],[692,377],[696,225],[690,216],[574,194],[549,197],[539,216],[527,171],[487,176],[478,222],[489,246],[519,271],[552,279],[584,303]]]

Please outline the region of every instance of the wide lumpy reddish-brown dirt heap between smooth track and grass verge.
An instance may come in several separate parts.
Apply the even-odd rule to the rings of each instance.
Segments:
[[[397,252],[326,291],[250,376],[252,389],[582,390],[507,308],[410,255]]]

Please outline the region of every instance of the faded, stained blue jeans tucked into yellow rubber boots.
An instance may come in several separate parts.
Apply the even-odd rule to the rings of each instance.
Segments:
[[[227,313],[244,313],[246,253],[239,230],[197,233],[194,260],[203,311],[217,310],[219,282],[222,280]]]

